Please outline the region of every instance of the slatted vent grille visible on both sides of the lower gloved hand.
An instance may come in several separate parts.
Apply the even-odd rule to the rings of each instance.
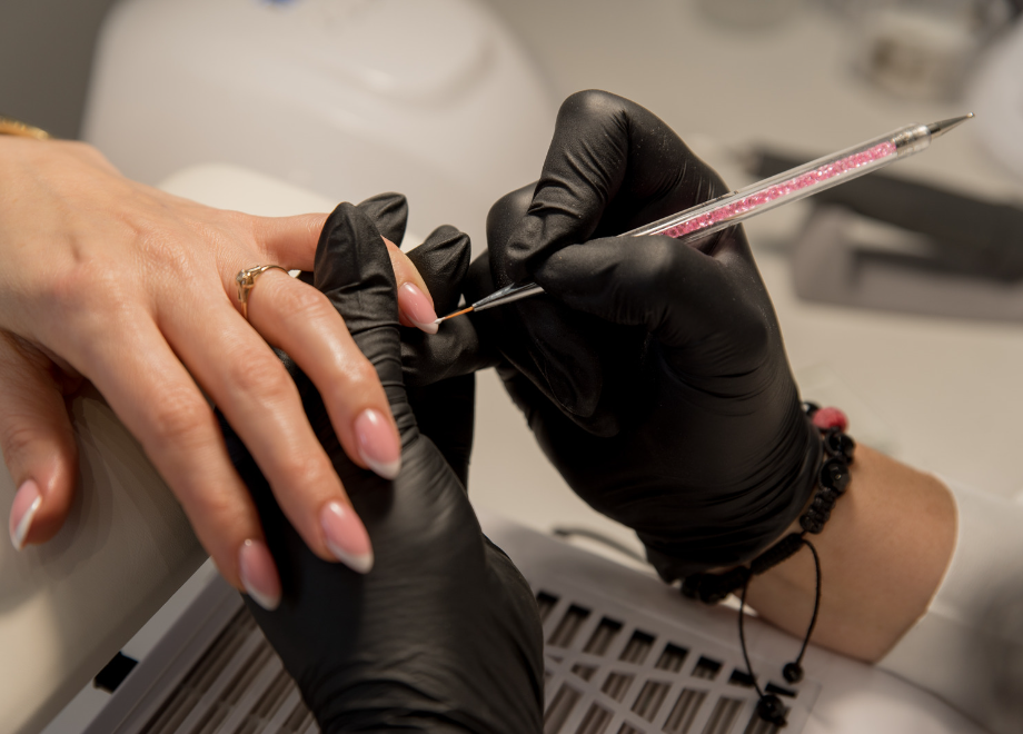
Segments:
[[[683,627],[608,609],[549,585],[537,594],[546,638],[545,734],[775,734],[732,651]],[[767,669],[769,666],[765,666]],[[766,680],[803,728],[820,686]],[[810,694],[813,694],[811,696]],[[315,734],[301,701],[244,606],[149,722],[147,734]]]

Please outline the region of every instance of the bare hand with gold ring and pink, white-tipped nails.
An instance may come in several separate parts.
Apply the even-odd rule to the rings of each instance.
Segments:
[[[405,202],[389,195],[367,206]],[[235,282],[261,264],[311,269],[325,219],[211,209],[122,177],[85,143],[0,136],[0,447],[18,487],[16,547],[49,539],[67,516],[78,470],[64,401],[89,379],[232,585],[256,584],[268,602],[279,587],[210,403],[239,426],[312,552],[336,559],[325,508],[347,505],[345,489],[268,343],[321,388],[352,460],[393,476],[399,440],[386,395],[315,288],[266,271],[246,321]],[[425,284],[388,249],[403,321],[429,321]],[[365,538],[357,517],[349,532]]]

